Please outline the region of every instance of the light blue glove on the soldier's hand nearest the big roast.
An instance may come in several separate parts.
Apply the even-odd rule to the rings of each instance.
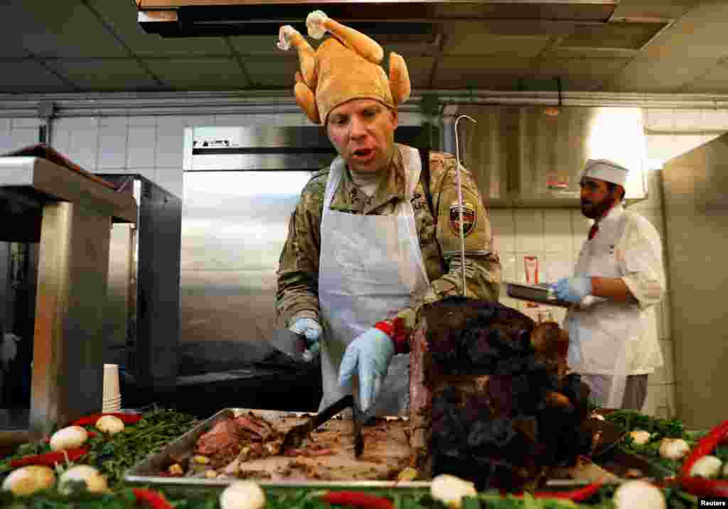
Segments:
[[[359,399],[363,412],[367,412],[379,395],[381,382],[387,375],[389,361],[395,354],[395,344],[379,329],[368,329],[349,343],[339,368],[339,385],[346,387],[359,373]]]

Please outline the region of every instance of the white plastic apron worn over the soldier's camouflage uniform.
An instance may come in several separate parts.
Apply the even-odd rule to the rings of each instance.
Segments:
[[[343,397],[339,365],[357,336],[422,299],[430,282],[422,262],[412,195],[422,164],[419,153],[395,145],[405,167],[405,200],[389,216],[329,210],[345,163],[337,157],[328,176],[321,217],[319,302],[323,320],[320,409]],[[358,383],[355,384],[358,387]],[[350,392],[350,391],[349,391]],[[403,415],[409,407],[409,355],[392,357],[373,415]]]

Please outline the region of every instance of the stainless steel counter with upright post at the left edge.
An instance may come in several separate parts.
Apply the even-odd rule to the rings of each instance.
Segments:
[[[0,157],[0,240],[39,242],[31,440],[100,410],[109,233],[137,216],[132,196],[93,175]]]

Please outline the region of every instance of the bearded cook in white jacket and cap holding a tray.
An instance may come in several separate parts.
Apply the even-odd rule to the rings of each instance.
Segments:
[[[594,220],[574,275],[555,285],[566,313],[569,366],[606,408],[640,410],[647,376],[662,366],[654,309],[665,294],[662,243],[654,226],[625,210],[628,169],[590,159],[580,181],[582,214]]]

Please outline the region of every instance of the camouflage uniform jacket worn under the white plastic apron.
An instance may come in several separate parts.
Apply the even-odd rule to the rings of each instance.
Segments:
[[[457,161],[454,156],[430,152],[430,190],[432,204],[438,210],[437,225],[427,204],[422,179],[412,199],[419,234],[422,260],[430,278],[430,290],[422,302],[403,310],[400,316],[414,318],[424,303],[449,295],[462,294],[460,237],[457,220]],[[319,320],[318,277],[321,248],[321,215],[328,180],[328,167],[317,172],[301,192],[296,210],[288,224],[288,239],[280,255],[276,311],[280,326],[289,326],[291,318]],[[348,169],[334,193],[331,210],[352,214],[391,215],[397,201],[403,199],[405,173],[400,151],[395,150],[387,181],[371,199],[357,188]],[[498,300],[501,266],[493,251],[490,221],[480,193],[470,172],[462,172],[462,201],[470,204],[472,227],[466,229],[465,281],[467,296]],[[451,220],[451,214],[453,220]],[[467,220],[464,220],[467,225]],[[365,253],[362,254],[365,257]],[[415,313],[411,313],[414,311]],[[382,317],[382,319],[387,317]],[[407,320],[411,323],[411,320]],[[373,324],[372,324],[373,325]]]

